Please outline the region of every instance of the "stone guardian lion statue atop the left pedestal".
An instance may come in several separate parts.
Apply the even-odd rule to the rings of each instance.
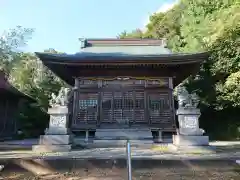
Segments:
[[[62,87],[57,96],[52,93],[51,97],[49,101],[51,107],[66,106],[70,97],[70,89]]]

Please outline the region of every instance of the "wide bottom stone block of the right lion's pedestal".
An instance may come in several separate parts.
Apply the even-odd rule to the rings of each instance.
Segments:
[[[208,136],[173,135],[173,144],[176,146],[208,146]]]

